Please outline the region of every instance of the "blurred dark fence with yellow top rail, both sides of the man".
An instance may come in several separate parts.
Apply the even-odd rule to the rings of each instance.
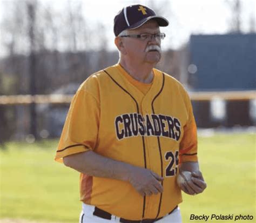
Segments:
[[[73,95],[0,96],[1,140],[28,139],[30,105],[36,105],[38,138],[59,137]],[[256,124],[256,91],[190,92],[198,127],[252,126]]]

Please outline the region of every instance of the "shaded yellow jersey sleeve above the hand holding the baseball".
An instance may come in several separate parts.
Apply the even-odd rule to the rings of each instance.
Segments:
[[[190,97],[185,92],[185,104],[187,108],[187,123],[184,126],[183,138],[180,141],[179,163],[198,161],[197,156],[197,125],[193,115]]]

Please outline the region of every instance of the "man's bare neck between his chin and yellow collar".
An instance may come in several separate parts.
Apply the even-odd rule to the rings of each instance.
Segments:
[[[130,64],[124,60],[120,60],[119,64],[131,77],[139,82],[149,84],[153,80],[153,68],[155,64]]]

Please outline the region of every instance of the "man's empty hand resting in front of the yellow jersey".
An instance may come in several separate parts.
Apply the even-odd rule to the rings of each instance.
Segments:
[[[128,181],[142,196],[162,193],[160,181],[163,180],[163,177],[146,168],[133,166],[129,171]]]

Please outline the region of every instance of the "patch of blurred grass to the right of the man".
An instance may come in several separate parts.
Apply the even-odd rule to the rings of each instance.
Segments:
[[[232,222],[235,215],[249,214],[254,219],[248,222],[255,222],[255,135],[237,133],[199,138],[199,148],[200,168],[207,188],[195,197],[183,196],[180,208],[184,222],[190,220],[191,214],[207,214],[210,219],[212,214],[233,214]]]

